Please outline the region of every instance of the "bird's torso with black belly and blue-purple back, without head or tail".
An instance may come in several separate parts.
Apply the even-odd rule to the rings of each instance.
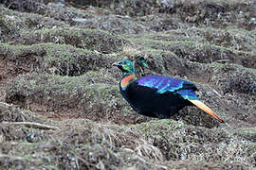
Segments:
[[[182,90],[194,93],[196,87],[190,82],[170,76],[143,76],[129,84],[125,91],[120,89],[134,110],[158,118],[169,118],[185,106],[192,105],[178,93]]]

